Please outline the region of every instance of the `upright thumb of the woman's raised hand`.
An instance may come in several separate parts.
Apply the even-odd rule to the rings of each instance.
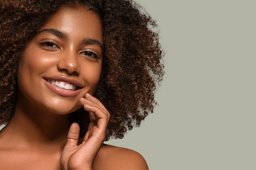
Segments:
[[[65,147],[69,146],[77,146],[78,139],[79,139],[79,125],[77,123],[73,123],[70,126],[70,129],[67,133],[67,144]]]

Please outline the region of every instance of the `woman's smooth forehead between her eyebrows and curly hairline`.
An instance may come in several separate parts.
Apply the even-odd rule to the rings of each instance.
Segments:
[[[102,24],[100,17],[85,7],[60,7],[43,25],[43,29],[57,29],[68,35],[86,36],[102,39]]]

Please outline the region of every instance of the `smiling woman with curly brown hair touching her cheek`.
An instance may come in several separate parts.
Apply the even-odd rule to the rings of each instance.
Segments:
[[[155,22],[129,0],[0,3],[0,169],[148,169],[103,141],[153,112]]]

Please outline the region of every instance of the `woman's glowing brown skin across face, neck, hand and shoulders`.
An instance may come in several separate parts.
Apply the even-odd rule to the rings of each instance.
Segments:
[[[16,110],[0,131],[0,169],[148,170],[139,153],[103,144],[110,113],[92,96],[102,44],[101,21],[84,7],[61,7],[29,41],[18,68]],[[83,139],[68,119],[81,107],[90,114]]]

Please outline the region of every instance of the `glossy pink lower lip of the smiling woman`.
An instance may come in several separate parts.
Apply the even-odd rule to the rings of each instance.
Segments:
[[[51,83],[48,83],[48,81],[46,80],[44,81],[44,83],[50,90],[52,90],[52,92],[65,97],[74,97],[78,95],[79,92],[81,91],[81,89],[77,89],[75,91],[63,89],[61,87],[57,87],[56,85],[52,85]]]

